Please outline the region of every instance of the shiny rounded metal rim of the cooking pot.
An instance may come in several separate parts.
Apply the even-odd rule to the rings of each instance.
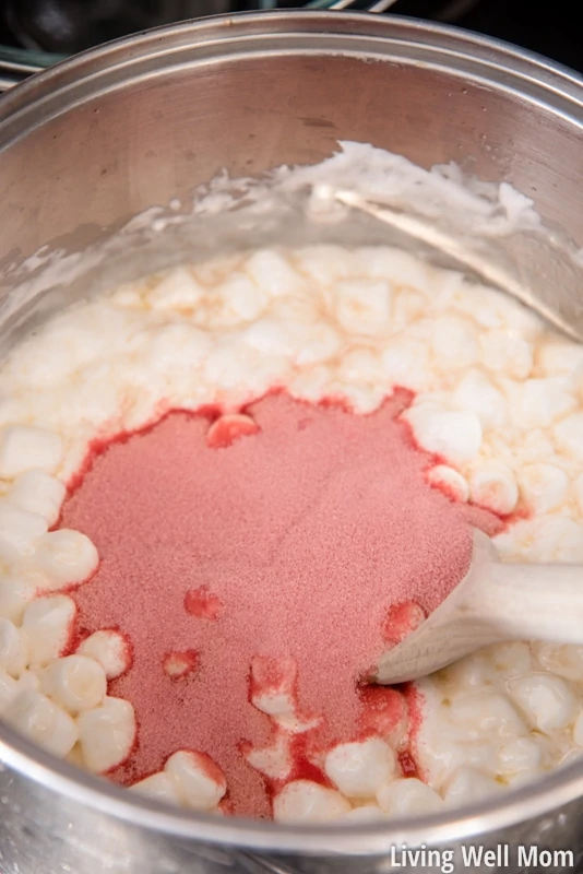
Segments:
[[[285,44],[285,45],[284,45]],[[304,48],[302,48],[304,46]],[[433,66],[465,81],[519,93],[546,111],[583,128],[583,79],[566,67],[507,43],[457,27],[367,13],[276,10],[216,15],[145,31],[74,56],[17,85],[0,101],[0,149],[50,118],[129,79],[164,74],[221,58],[265,50],[342,54],[411,66]],[[2,764],[71,802],[127,823],[183,839],[313,855],[388,853],[401,845],[427,846],[471,838],[542,816],[583,794],[583,760],[502,800],[380,824],[291,826],[217,817],[165,807],[55,758],[0,725]]]

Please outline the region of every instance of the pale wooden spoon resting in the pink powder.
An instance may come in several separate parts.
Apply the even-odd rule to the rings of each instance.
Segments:
[[[503,640],[583,646],[583,565],[509,564],[474,531],[468,572],[407,637],[379,659],[374,683],[427,676]]]

